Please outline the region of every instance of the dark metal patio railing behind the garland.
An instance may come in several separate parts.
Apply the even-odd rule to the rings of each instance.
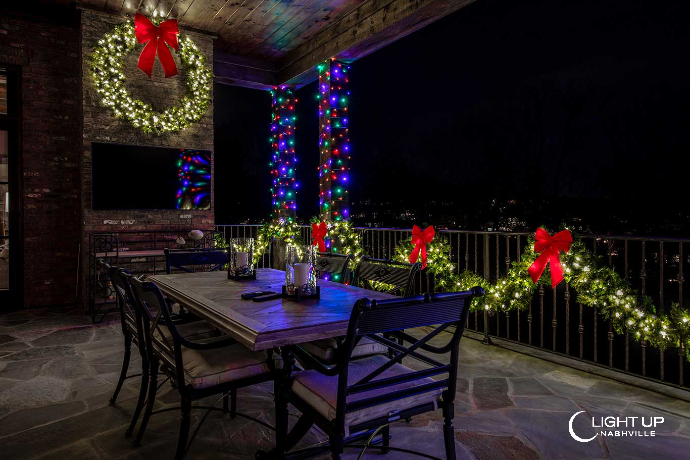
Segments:
[[[217,226],[228,237],[256,234],[259,226]],[[357,228],[364,254],[392,258],[400,241],[411,237],[411,229]],[[437,230],[450,243],[450,255],[457,273],[471,270],[488,281],[504,277],[513,261],[520,260],[530,233]],[[594,254],[627,279],[633,288],[654,302],[658,313],[668,313],[671,303],[684,305],[684,272],[690,257],[684,245],[690,238],[632,237],[579,234]],[[303,228],[310,241],[311,228]],[[270,260],[271,254],[266,256]],[[270,266],[270,262],[268,265]],[[433,280],[420,279],[420,291],[433,289]],[[616,334],[611,321],[596,308],[576,301],[571,287],[562,283],[555,289],[541,286],[529,310],[486,312],[470,315],[468,328],[491,337],[500,337],[622,372],[638,374],[663,383],[687,388],[684,375],[690,370],[682,348],[660,351],[638,342],[628,330]]]

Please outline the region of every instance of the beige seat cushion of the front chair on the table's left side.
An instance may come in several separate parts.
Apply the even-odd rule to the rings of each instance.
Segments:
[[[214,341],[217,338],[209,339]],[[268,353],[255,352],[237,343],[213,350],[183,348],[182,361],[187,383],[195,388],[208,388],[247,377],[268,374]],[[282,368],[282,360],[273,355],[275,368]]]

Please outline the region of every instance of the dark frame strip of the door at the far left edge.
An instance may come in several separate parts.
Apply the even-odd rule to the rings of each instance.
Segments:
[[[21,66],[0,64],[7,77],[7,114],[0,114],[0,130],[8,132],[8,168],[10,183],[10,289],[0,291],[0,313],[24,308],[24,174],[22,148]]]

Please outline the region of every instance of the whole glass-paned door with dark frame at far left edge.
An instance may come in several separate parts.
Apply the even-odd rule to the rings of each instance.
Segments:
[[[18,79],[0,67],[0,312],[23,308]]]

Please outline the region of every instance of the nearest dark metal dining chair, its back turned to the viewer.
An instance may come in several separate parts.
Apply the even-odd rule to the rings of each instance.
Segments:
[[[297,371],[290,377],[292,386],[287,399],[302,416],[288,434],[284,448],[290,450],[314,424],[328,434],[331,458],[342,459],[346,447],[378,448],[382,452],[399,451],[420,454],[390,445],[390,424],[424,412],[442,408],[443,437],[446,460],[455,460],[455,436],[453,433],[453,401],[457,385],[459,361],[458,346],[469,312],[472,297],[482,295],[482,288],[448,294],[424,294],[401,299],[382,301],[360,299],[355,303],[347,334],[337,363],[323,366],[299,346],[294,346],[300,361],[310,362],[312,369]],[[426,335],[418,338],[404,329],[425,329]],[[450,326],[450,339],[442,346],[432,345],[431,339],[443,339],[440,335]],[[390,332],[408,345],[386,339],[382,334]],[[364,338],[394,348],[397,354],[385,357],[377,354],[363,359],[352,359],[352,351]],[[437,342],[435,342],[437,343]],[[439,361],[439,355],[450,354],[448,363]],[[402,359],[420,363],[413,370],[402,364]],[[434,378],[431,378],[434,377]],[[373,439],[382,433],[382,445],[374,446]],[[368,437],[364,444],[354,444],[357,439]],[[323,454],[325,448],[317,446],[302,453],[305,457]],[[361,458],[361,457],[360,457]],[[440,459],[439,459],[440,460]]]

